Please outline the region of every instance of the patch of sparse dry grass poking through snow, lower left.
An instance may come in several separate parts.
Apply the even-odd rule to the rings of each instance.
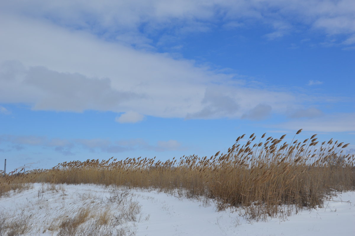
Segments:
[[[135,229],[141,206],[125,188],[106,187],[98,192],[81,185],[35,187],[30,193],[11,193],[14,204],[10,208],[1,204],[0,236],[134,234],[131,230]],[[5,202],[6,198],[1,200]]]

